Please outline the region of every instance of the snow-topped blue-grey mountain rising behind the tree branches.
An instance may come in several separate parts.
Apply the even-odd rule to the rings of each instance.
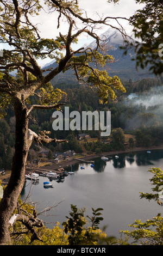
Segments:
[[[153,77],[149,73],[148,69],[139,69],[136,70],[135,61],[131,60],[133,58],[134,50],[129,51],[124,55],[124,50],[120,48],[123,46],[123,37],[122,34],[116,29],[108,29],[104,34],[100,36],[101,44],[105,46],[105,53],[114,57],[114,63],[108,63],[105,65],[104,69],[107,70],[109,76],[118,76],[121,80],[129,80],[130,78],[135,81],[147,77]],[[86,46],[95,49],[96,40],[93,40],[90,45]],[[46,64],[46,68],[55,68],[57,65],[55,61]],[[59,74],[56,78],[53,78],[54,83],[58,82],[67,82],[70,83],[72,80],[76,80],[73,76],[73,71],[68,70],[65,74]]]

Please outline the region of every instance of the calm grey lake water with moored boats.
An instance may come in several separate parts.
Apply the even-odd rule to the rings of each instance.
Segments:
[[[85,169],[80,169],[81,166]],[[47,212],[49,216],[39,216],[43,221],[51,222],[48,227],[53,227],[54,222],[61,224],[65,221],[71,204],[79,209],[85,207],[89,216],[91,208],[103,208],[104,221],[100,228],[107,225],[106,234],[118,238],[119,230],[129,229],[128,224],[134,220],[146,221],[162,213],[163,208],[156,202],[140,199],[139,192],[152,192],[149,181],[152,174],[148,172],[152,167],[163,168],[163,150],[151,150],[151,154],[147,151],[121,154],[119,159],[113,156],[107,162],[99,158],[93,168],[87,163],[74,164],[74,174],[66,176],[62,182],[52,180],[53,188],[43,188],[43,181],[49,179],[40,176],[39,182],[30,191],[31,181],[27,180],[21,199],[24,200],[30,191],[28,202],[36,203],[38,212],[62,201],[55,211]]]

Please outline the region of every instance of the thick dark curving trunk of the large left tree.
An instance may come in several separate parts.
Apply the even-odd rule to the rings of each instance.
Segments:
[[[0,204],[0,245],[11,244],[9,219],[16,207],[18,196],[24,184],[25,165],[30,145],[28,145],[28,116],[23,100],[13,100],[15,110],[15,154],[12,159],[11,176],[4,190]],[[31,142],[32,143],[32,142]],[[30,143],[30,144],[31,144]]]

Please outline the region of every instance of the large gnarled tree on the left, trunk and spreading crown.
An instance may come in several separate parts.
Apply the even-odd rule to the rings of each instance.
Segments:
[[[0,204],[0,244],[5,244],[10,243],[8,223],[23,187],[30,145],[33,141],[37,143],[65,142],[64,139],[50,138],[48,131],[39,131],[36,134],[28,129],[28,121],[33,109],[60,109],[64,105],[62,101],[64,92],[52,87],[50,83],[52,78],[60,72],[73,69],[77,80],[95,89],[99,99],[105,103],[108,97],[115,99],[116,90],[125,92],[125,89],[117,76],[109,77],[104,69],[98,70],[90,65],[93,63],[103,67],[106,62],[113,60],[111,56],[104,55],[99,37],[94,32],[97,24],[109,25],[110,17],[92,20],[84,17],[82,10],[78,7],[78,1],[45,0],[48,11],[58,14],[57,27],[60,26],[61,17],[64,17],[69,26],[67,35],[60,33],[56,39],[48,39],[41,37],[39,29],[32,22],[32,17],[43,11],[41,1],[7,0],[0,2],[0,42],[10,46],[9,50],[3,50],[3,57],[0,59],[1,116],[5,114],[5,109],[10,104],[15,113],[15,154],[12,159],[10,180]],[[114,19],[118,24],[119,18]],[[78,28],[78,20],[83,22],[82,28]],[[95,50],[90,48],[72,50],[72,43],[77,42],[78,36],[82,33],[96,39]],[[125,35],[123,29],[122,33]],[[97,51],[98,48],[101,53]],[[53,70],[40,68],[37,60],[46,57],[56,60],[56,68]],[[11,71],[16,72],[16,75],[13,76]],[[37,104],[30,102],[33,96],[37,97]]]

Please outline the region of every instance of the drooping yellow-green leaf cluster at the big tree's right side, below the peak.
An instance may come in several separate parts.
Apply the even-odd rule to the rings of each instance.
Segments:
[[[95,65],[103,67],[106,63],[113,62],[112,56],[103,56],[103,54],[94,50],[86,52],[86,55],[71,58],[71,62],[74,69],[78,70],[79,81],[86,78],[87,84],[97,89],[100,103],[108,103],[108,97],[114,100],[117,97],[116,90],[126,92],[117,76],[110,77],[106,70],[94,69],[89,64],[95,63]]]

